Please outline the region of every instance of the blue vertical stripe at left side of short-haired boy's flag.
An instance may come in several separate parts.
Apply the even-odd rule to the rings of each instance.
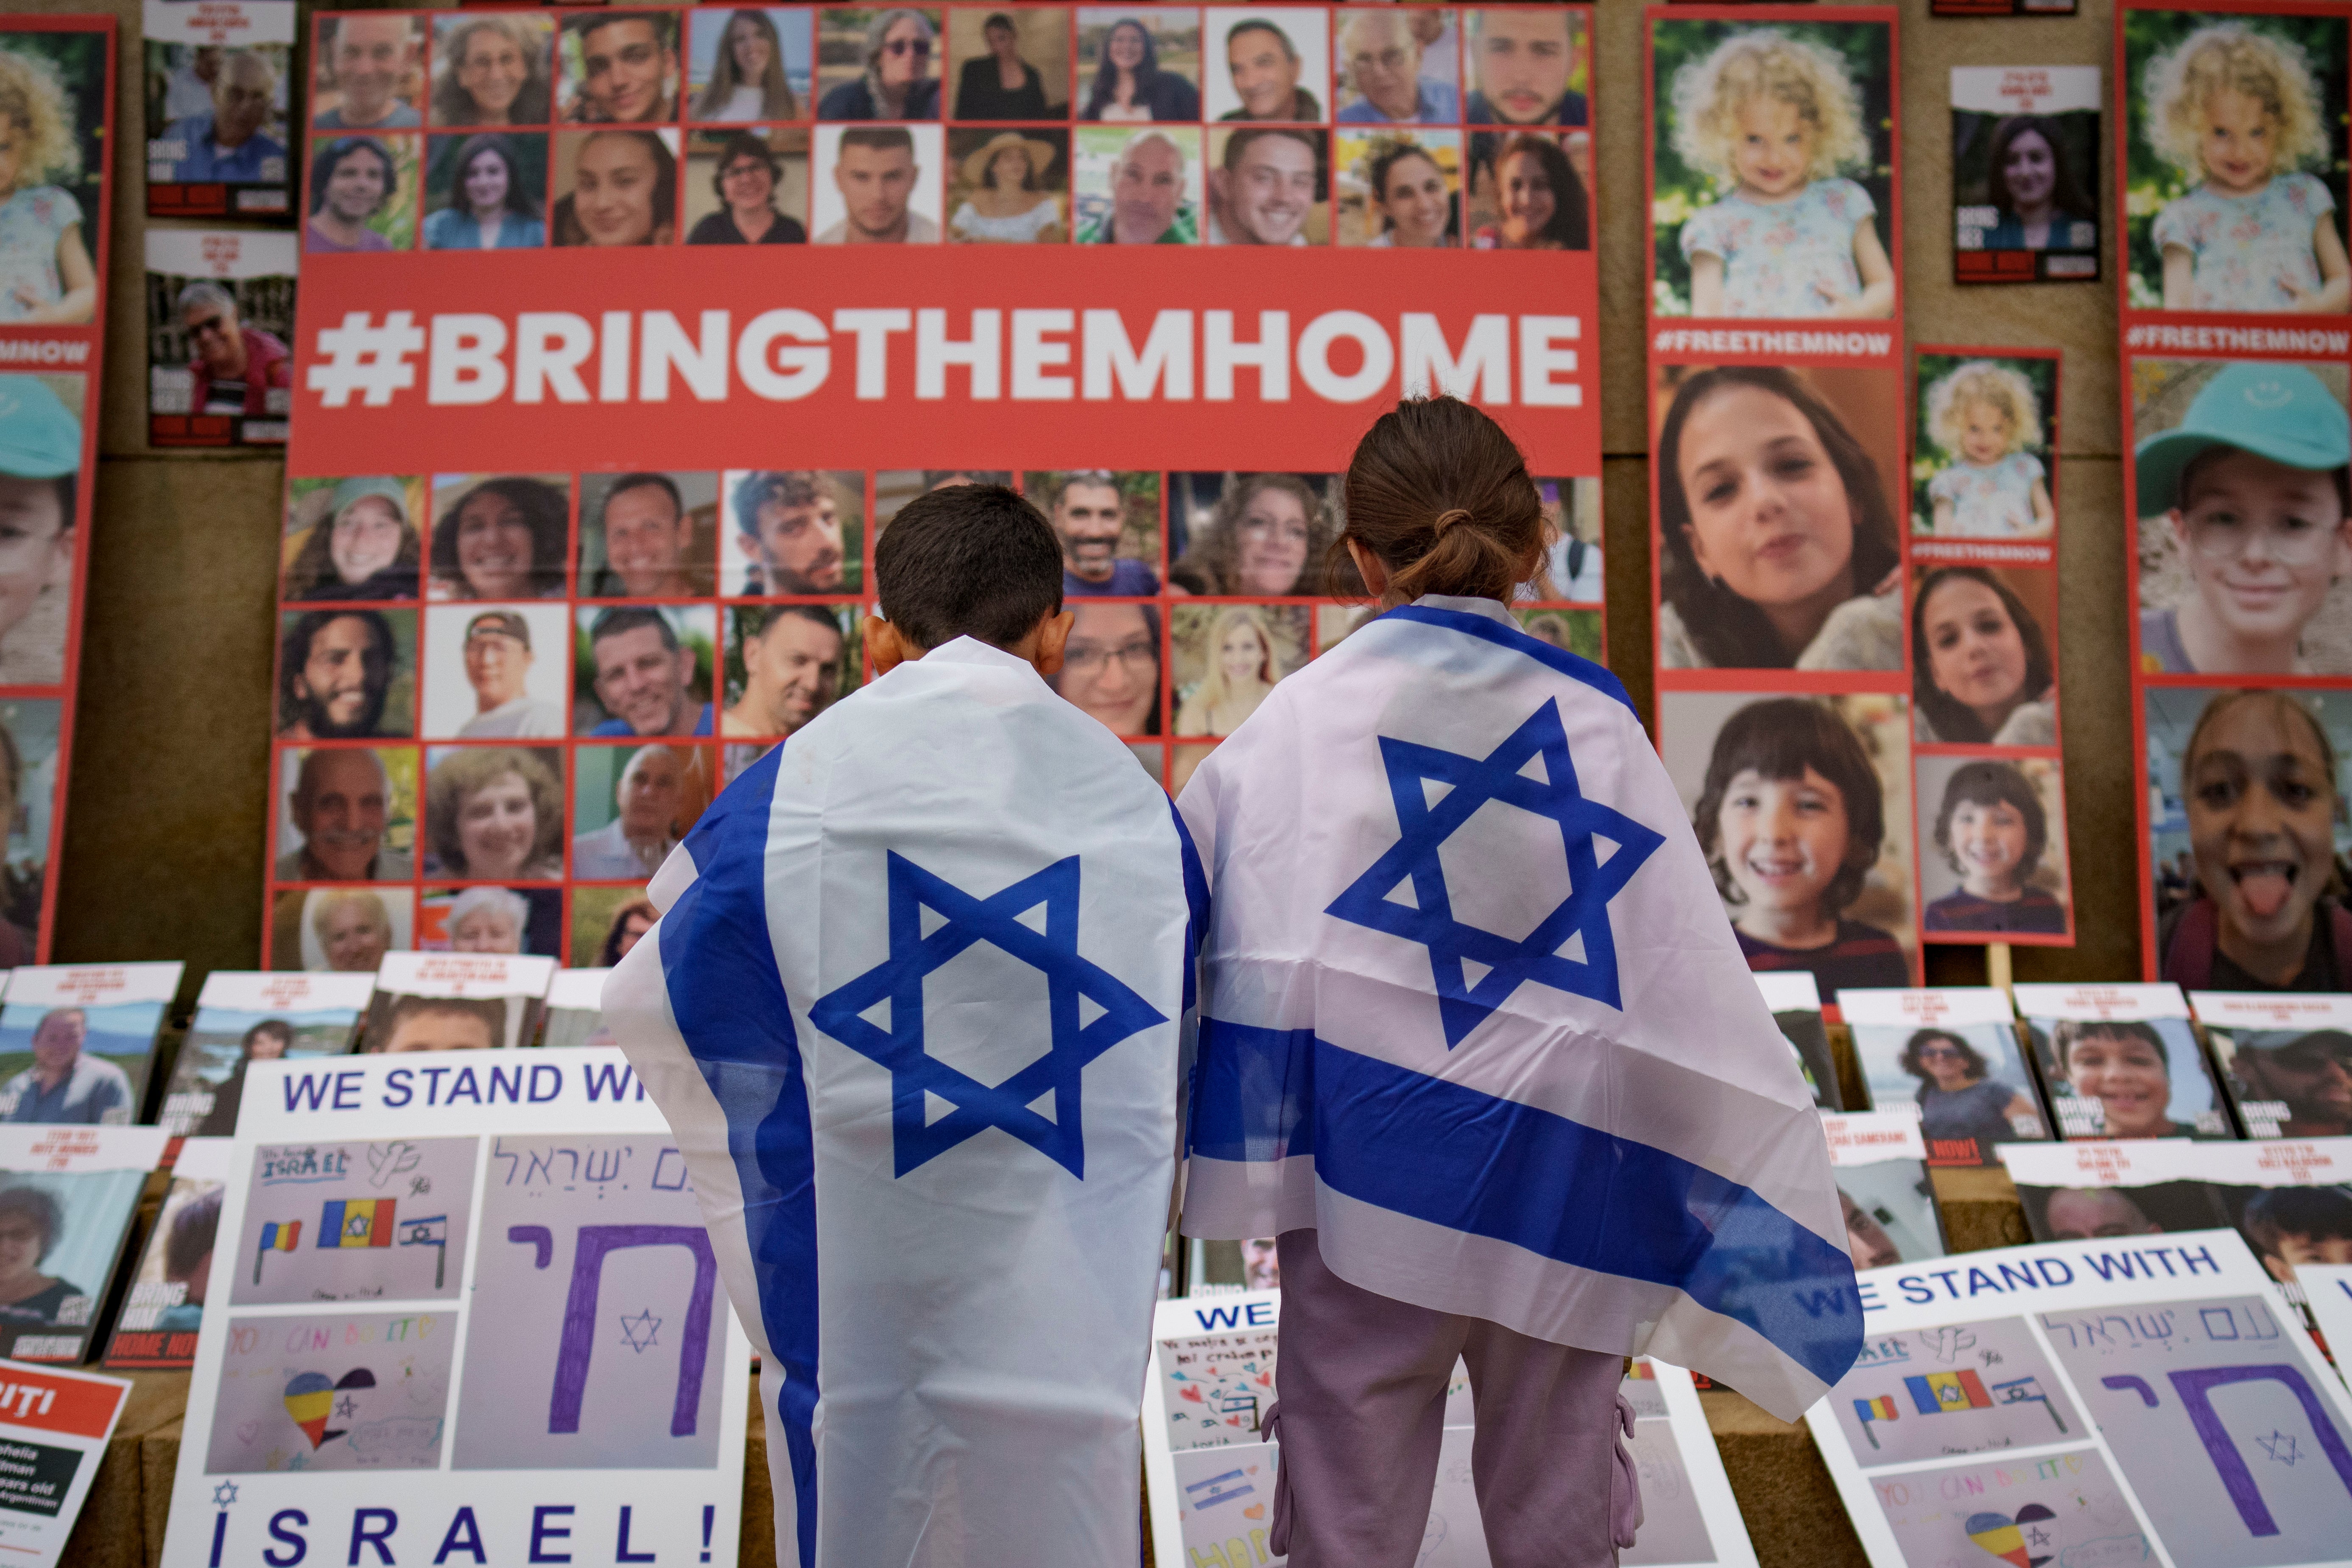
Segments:
[[[696,879],[661,917],[677,1032],[727,1114],[760,1321],[783,1361],[802,1568],[816,1563],[816,1182],[809,1088],[767,933],[767,818],[783,745],[755,762],[687,835]]]

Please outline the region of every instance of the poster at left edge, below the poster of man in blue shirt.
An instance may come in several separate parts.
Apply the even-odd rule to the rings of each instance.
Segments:
[[[0,1126],[0,1356],[89,1359],[165,1143],[153,1126]]]

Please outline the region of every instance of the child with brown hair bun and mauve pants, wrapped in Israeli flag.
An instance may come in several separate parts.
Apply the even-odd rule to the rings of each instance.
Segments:
[[[1279,1237],[1291,1568],[1409,1568],[1456,1356],[1496,1568],[1616,1563],[1621,1356],[1795,1420],[1860,1349],[1811,1095],[1616,677],[1519,630],[1510,437],[1439,397],[1348,470],[1385,614],[1178,806],[1209,875],[1183,1229]]]

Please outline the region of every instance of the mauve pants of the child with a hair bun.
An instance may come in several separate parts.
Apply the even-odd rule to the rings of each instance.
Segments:
[[[1470,1366],[1470,1474],[1494,1568],[1613,1568],[1642,1523],[1623,1356],[1359,1291],[1312,1229],[1282,1246],[1282,1443],[1268,1544],[1291,1568],[1414,1568],[1437,1486],[1446,1382]]]

